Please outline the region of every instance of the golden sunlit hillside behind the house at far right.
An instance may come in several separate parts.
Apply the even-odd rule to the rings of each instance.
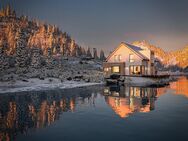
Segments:
[[[171,52],[165,52],[163,49],[151,45],[146,41],[135,41],[133,45],[147,47],[155,52],[155,57],[166,67],[177,66],[180,68],[188,67],[188,46]]]

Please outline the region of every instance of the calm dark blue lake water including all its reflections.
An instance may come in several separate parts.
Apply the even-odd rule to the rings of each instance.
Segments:
[[[0,95],[0,141],[187,141],[188,79]]]

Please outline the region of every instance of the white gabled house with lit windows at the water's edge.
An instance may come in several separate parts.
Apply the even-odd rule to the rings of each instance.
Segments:
[[[105,76],[154,75],[154,52],[122,42],[103,63]]]

